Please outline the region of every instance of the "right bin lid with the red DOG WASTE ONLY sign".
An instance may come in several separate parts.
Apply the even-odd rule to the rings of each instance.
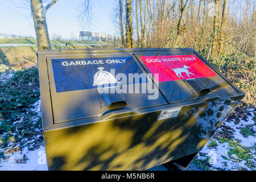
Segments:
[[[193,49],[139,52],[138,58],[168,103],[199,98],[207,94],[235,93],[207,61]]]

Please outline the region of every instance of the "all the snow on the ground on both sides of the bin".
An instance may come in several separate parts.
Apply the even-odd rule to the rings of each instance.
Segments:
[[[34,108],[31,110],[40,115],[40,100],[32,106]],[[240,122],[238,123],[235,123],[233,120],[225,121],[222,126],[232,128],[233,138],[230,140],[220,140],[218,138],[210,139],[203,150],[200,151],[199,155],[197,155],[196,160],[202,163],[206,163],[209,167],[208,169],[212,170],[255,170],[255,109],[250,109],[248,112],[249,114],[247,119],[240,118]],[[22,118],[16,122],[19,123],[20,121],[22,121]],[[246,137],[241,134],[241,129],[248,126],[254,130],[253,136],[249,135]],[[218,129],[216,133],[221,130],[222,127]],[[42,137],[41,129],[38,129],[38,133],[40,134],[36,137]],[[26,142],[31,142],[31,140],[25,138],[23,140]],[[215,142],[214,146],[209,146],[213,143],[213,141]],[[232,150],[234,147],[247,147],[247,149],[249,148],[248,154],[244,155],[248,155],[250,158],[244,160],[241,159],[241,156],[239,158],[236,154],[230,154],[230,150]],[[191,165],[196,166],[194,162]],[[202,167],[200,166],[200,168]],[[24,147],[20,150],[17,150],[16,152],[10,152],[10,155],[7,156],[6,159],[0,159],[0,170],[48,170],[46,164],[46,153],[43,143],[36,150],[30,151],[27,147]],[[165,171],[167,169],[163,165],[160,165],[148,170]],[[189,168],[189,170],[191,170],[191,168]]]

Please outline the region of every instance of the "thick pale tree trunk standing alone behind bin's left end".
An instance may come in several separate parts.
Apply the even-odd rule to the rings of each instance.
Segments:
[[[38,49],[51,49],[46,23],[46,7],[42,0],[30,0]]]

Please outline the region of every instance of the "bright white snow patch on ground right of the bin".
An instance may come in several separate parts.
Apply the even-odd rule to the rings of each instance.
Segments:
[[[233,140],[236,140],[241,146],[244,147],[250,147],[250,151],[253,153],[255,158],[255,151],[254,146],[256,144],[256,137],[249,135],[248,137],[243,137],[243,135],[240,133],[242,127],[246,127],[247,125],[255,125],[255,121],[253,120],[254,115],[254,109],[249,110],[249,114],[247,116],[247,119],[240,118],[240,122],[236,124],[234,120],[232,119],[230,122],[224,122],[223,126],[229,126],[232,129],[234,129],[233,132]],[[255,129],[255,126],[254,126]],[[221,130],[221,127],[220,129]],[[216,147],[208,147],[208,144],[214,140],[217,143]],[[220,143],[217,139],[210,139],[208,143],[204,146],[204,148],[199,152],[199,155],[197,155],[197,159],[206,160],[206,156],[209,158],[209,164],[211,164],[211,168],[213,170],[221,169],[221,170],[252,170],[252,168],[247,167],[246,161],[239,159],[237,155],[232,154],[231,156],[228,155],[228,151],[230,150],[229,143],[224,142]],[[248,159],[251,162],[255,163],[255,159]],[[254,167],[255,169],[255,167]]]

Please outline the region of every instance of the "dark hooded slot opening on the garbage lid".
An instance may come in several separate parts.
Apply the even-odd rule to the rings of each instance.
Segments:
[[[127,105],[127,99],[122,93],[116,93],[114,88],[97,89],[101,109],[121,109]]]

